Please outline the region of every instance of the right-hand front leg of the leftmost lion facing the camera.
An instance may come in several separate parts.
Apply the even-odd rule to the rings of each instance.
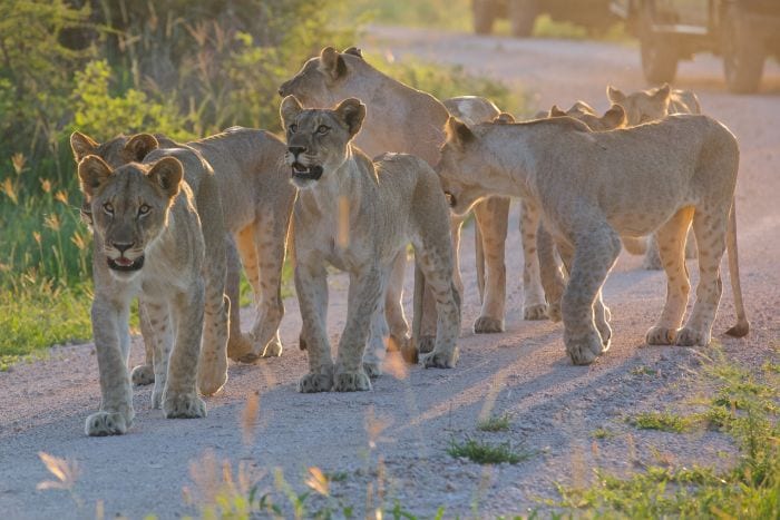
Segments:
[[[168,303],[175,336],[163,393],[163,411],[168,419],[206,416],[206,403],[197,394],[204,300],[204,283],[198,279]]]

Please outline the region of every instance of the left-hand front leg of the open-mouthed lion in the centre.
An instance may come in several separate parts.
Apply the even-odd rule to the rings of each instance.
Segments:
[[[333,361],[328,341],[328,274],[318,261],[308,263],[298,258],[295,292],[301,307],[303,330],[309,355],[309,373],[301,377],[298,390],[303,393],[328,392],[333,386]]]

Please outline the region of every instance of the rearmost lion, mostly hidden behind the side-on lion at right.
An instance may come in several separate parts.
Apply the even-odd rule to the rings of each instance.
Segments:
[[[617,104],[626,112],[627,126],[642,125],[657,121],[670,114],[701,114],[699,98],[691,90],[671,89],[669,85],[657,88],[640,90],[625,95],[621,90],[608,86],[606,97],[611,102]],[[632,254],[645,255],[642,266],[646,269],[662,269],[659,243],[654,235],[624,239],[623,245]],[[696,257],[696,242],[693,232],[689,232],[685,242],[685,257]]]

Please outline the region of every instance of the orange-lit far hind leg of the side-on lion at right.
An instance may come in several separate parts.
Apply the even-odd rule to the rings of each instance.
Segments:
[[[691,290],[684,244],[692,217],[693,207],[682,208],[655,233],[661,264],[666,272],[666,303],[659,321],[647,331],[650,345],[673,344],[682,325]]]

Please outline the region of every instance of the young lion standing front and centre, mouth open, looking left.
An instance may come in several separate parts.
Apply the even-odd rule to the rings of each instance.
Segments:
[[[365,117],[358,99],[334,109],[304,109],[287,96],[280,112],[285,158],[299,190],[293,209],[295,290],[310,367],[299,390],[371,389],[369,376],[380,373],[389,334],[384,295],[393,259],[410,242],[438,313],[436,344],[422,362],[455,366],[460,308],[452,283],[449,210],[436,173],[415,156],[384,154],[371,161],[354,147],[351,141]],[[326,264],[350,274],[335,365],[325,328]]]

